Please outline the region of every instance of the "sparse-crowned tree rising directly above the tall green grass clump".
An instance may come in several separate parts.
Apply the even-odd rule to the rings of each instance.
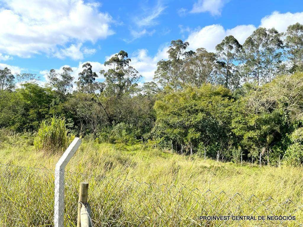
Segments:
[[[54,69],[51,69],[47,78],[53,88],[60,94],[65,95],[68,91],[72,90],[74,77],[71,76],[71,72],[73,71],[71,67],[63,67],[62,70],[63,72],[59,74]]]

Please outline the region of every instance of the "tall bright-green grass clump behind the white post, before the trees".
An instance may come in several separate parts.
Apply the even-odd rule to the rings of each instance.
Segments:
[[[65,118],[54,116],[40,123],[34,146],[38,151],[58,153],[65,150],[69,142]]]

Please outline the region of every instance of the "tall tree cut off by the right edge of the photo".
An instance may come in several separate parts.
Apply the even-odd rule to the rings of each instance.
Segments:
[[[285,49],[291,61],[291,72],[303,71],[303,25],[289,25],[286,31]]]

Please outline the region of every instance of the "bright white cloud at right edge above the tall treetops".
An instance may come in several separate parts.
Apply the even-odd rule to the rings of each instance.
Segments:
[[[289,25],[293,25],[299,22],[303,24],[303,12],[298,13],[280,13],[280,12],[272,12],[271,15],[267,15],[261,19],[260,27],[264,28],[275,28],[279,32],[286,31]]]

